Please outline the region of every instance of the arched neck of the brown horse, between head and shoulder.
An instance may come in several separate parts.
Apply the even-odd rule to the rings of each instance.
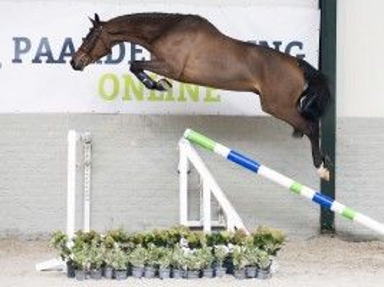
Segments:
[[[143,18],[137,15],[127,15],[107,22],[108,31],[114,44],[131,42],[148,47],[150,42],[158,37],[172,19]]]

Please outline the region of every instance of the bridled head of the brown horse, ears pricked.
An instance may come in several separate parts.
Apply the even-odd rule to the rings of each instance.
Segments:
[[[111,52],[111,41],[108,32],[104,27],[104,22],[95,14],[95,19],[91,19],[93,26],[83,39],[83,43],[76,53],[72,56],[71,66],[74,70],[83,70],[87,65],[97,61]]]

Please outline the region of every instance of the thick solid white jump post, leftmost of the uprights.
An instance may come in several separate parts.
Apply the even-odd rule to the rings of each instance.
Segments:
[[[76,131],[68,132],[67,155],[67,235],[69,241],[75,234],[75,198],[76,198]]]

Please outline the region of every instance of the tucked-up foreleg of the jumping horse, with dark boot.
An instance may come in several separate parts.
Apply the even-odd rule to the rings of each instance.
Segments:
[[[157,74],[169,74],[169,68],[161,61],[134,61],[131,62],[130,71],[145,85],[148,89],[166,91],[172,87],[166,79],[155,81],[144,70],[149,70]]]

